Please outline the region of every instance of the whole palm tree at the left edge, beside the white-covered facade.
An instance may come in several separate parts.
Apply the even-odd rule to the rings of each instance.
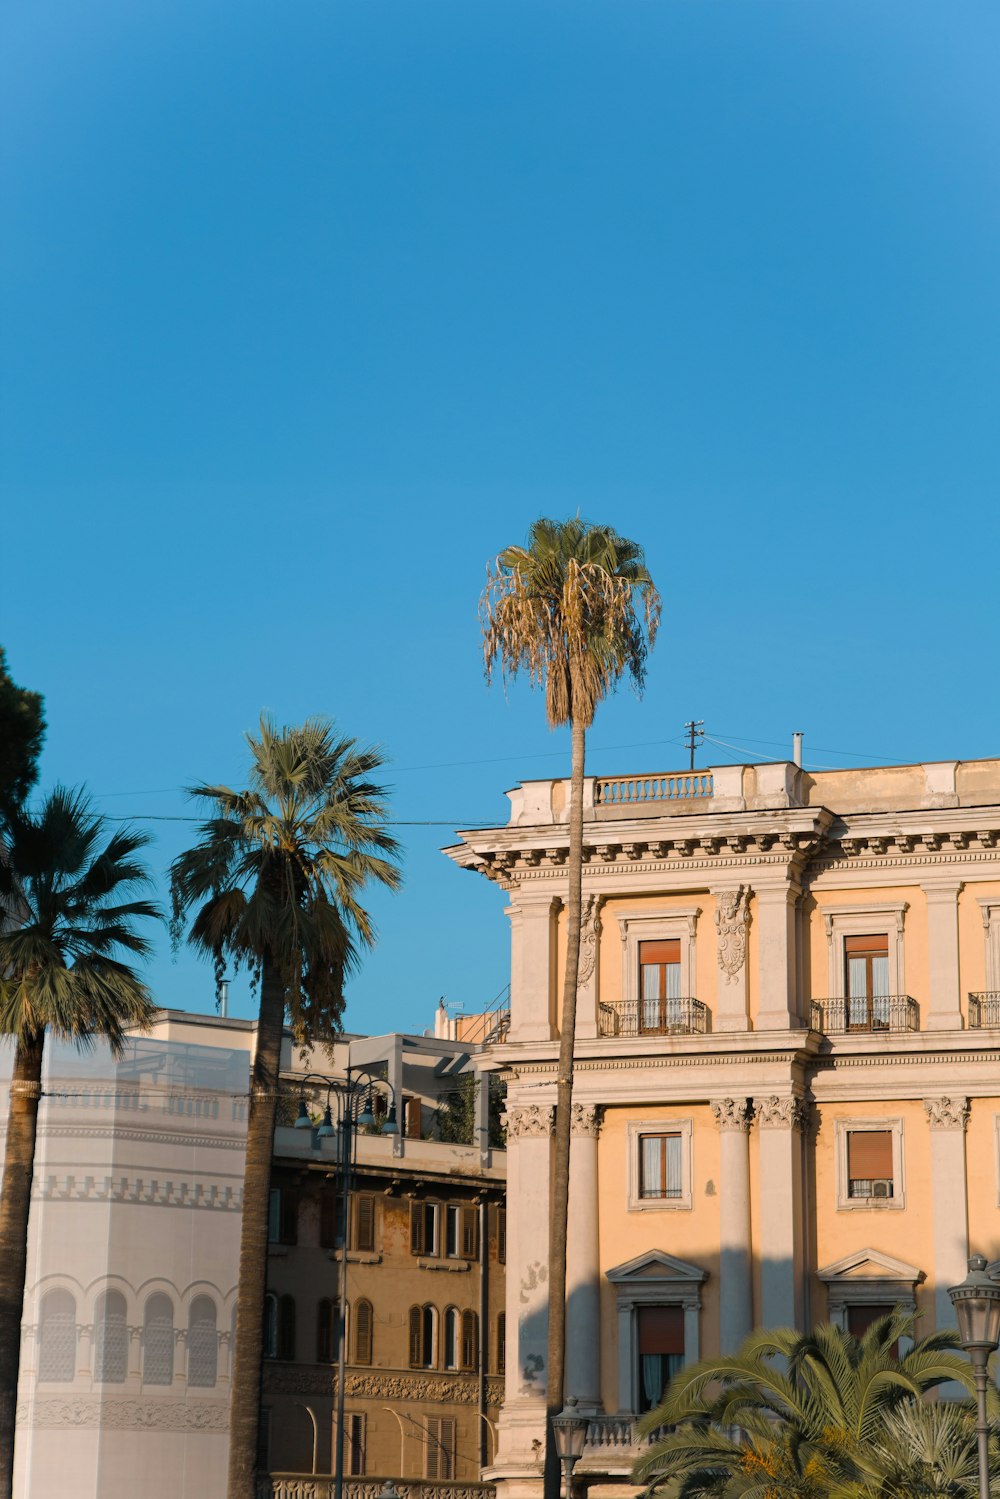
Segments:
[[[142,898],[138,860],[148,839],[105,833],[82,791],[55,787],[37,812],[7,806],[0,856],[0,1033],[15,1042],[0,1196],[0,1496],[13,1486],[34,1136],[45,1034],[121,1054],[126,1031],[148,1030],[148,989],[121,959],[150,952],[138,923],[159,917]],[[4,922],[6,917],[6,922]]]

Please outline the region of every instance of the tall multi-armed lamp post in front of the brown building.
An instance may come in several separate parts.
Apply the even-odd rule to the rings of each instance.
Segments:
[[[351,1187],[357,1154],[357,1127],[372,1129],[376,1124],[376,1118],[372,1111],[373,1090],[376,1087],[387,1088],[391,1102],[385,1115],[385,1123],[381,1127],[381,1133],[399,1135],[399,1126],[396,1124],[396,1093],[391,1082],[387,1082],[385,1078],[373,1076],[373,1073],[370,1073],[366,1067],[348,1067],[343,1078],[325,1078],[318,1072],[310,1072],[298,1081],[303,1090],[310,1082],[318,1082],[327,1090],[322,1121],[316,1126],[316,1139],[330,1139],[337,1132],[340,1133],[340,1148],[337,1151],[337,1165],[340,1168],[340,1285],[337,1286],[337,1420],[333,1495],[334,1499],[343,1499],[343,1385],[348,1361],[348,1217],[351,1211]],[[364,1097],[364,1103],[358,1109],[361,1097]],[[337,1100],[336,1124],[333,1123],[331,1099]],[[298,1096],[298,1118],[295,1120],[295,1129],[312,1130],[312,1127],[313,1124],[306,1108],[306,1097],[303,1091]]]

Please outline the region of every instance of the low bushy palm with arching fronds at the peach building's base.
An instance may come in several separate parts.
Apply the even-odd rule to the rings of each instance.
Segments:
[[[898,1357],[913,1327],[897,1307],[859,1339],[831,1325],[753,1333],[739,1352],[672,1381],[640,1427],[672,1430],[636,1463],[636,1477],[664,1499],[876,1499],[882,1490],[870,1486],[885,1477],[876,1444],[888,1418],[949,1379],[972,1390],[951,1331]]]

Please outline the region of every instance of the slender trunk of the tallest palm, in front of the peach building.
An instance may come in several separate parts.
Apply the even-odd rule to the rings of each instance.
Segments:
[[[570,1217],[570,1135],[573,1112],[573,1042],[576,995],[580,973],[580,920],[583,914],[583,757],[586,735],[573,718],[573,770],[570,779],[570,853],[567,859],[567,961],[559,1018],[559,1066],[556,1073],[556,1124],[549,1201],[549,1411],[546,1499],[558,1499],[559,1463],[553,1460],[552,1417],[562,1409],[565,1369],[567,1229]]]

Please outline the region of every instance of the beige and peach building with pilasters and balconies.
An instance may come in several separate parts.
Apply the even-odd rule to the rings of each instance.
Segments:
[[[508,893],[507,1391],[540,1493],[568,782],[448,854]],[[756,1325],[861,1330],[1000,1256],[1000,760],[586,782],[567,1385],[621,1481],[672,1372]]]

